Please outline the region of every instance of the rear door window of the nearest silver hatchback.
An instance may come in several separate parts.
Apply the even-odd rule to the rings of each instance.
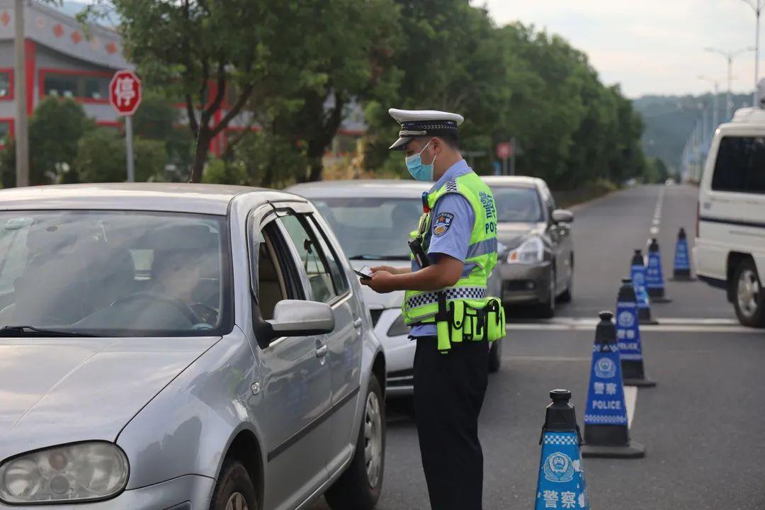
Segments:
[[[321,243],[306,223],[304,216],[287,215],[281,217],[282,225],[295,245],[301,265],[311,284],[314,300],[330,303],[337,297],[327,262],[327,254],[321,248]]]

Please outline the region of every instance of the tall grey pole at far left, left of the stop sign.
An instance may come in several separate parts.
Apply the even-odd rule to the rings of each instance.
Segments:
[[[15,0],[14,96],[16,99],[16,186],[29,186],[29,132],[27,128],[27,59],[24,52],[24,0]]]

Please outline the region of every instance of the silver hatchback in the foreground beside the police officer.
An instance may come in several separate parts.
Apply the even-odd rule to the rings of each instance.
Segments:
[[[2,191],[0,324],[0,508],[376,504],[386,361],[300,197]]]

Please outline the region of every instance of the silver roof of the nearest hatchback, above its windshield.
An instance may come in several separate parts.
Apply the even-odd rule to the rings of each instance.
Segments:
[[[289,197],[264,188],[221,184],[63,184],[0,190],[0,210],[149,210],[226,215],[231,200],[243,193],[262,193],[264,201]]]

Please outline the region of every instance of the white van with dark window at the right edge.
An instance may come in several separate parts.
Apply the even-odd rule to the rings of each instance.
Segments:
[[[698,278],[728,292],[738,320],[765,327],[765,109],[740,109],[715,133],[693,255]]]

